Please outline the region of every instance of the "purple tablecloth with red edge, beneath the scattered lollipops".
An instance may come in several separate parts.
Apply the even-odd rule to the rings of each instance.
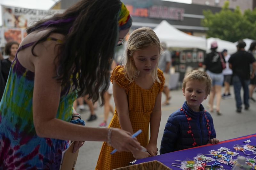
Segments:
[[[234,145],[236,144],[245,144],[244,141],[250,139],[251,142],[250,143],[246,143],[246,144],[252,144],[252,145],[256,145],[256,134],[252,134],[252,135],[248,135],[248,136],[244,136],[244,137],[238,137],[238,138],[234,138],[234,139],[229,139],[226,141],[222,141],[219,144],[207,144],[204,146],[198,146],[195,148],[190,148],[187,150],[182,150],[182,151],[176,151],[176,152],[170,152],[170,153],[166,153],[166,154],[162,154],[162,155],[157,155],[154,157],[149,157],[149,158],[144,158],[144,159],[139,159],[136,161],[136,164],[142,163],[142,162],[148,162],[148,161],[152,161],[152,160],[158,160],[159,162],[162,162],[164,165],[172,168],[172,169],[176,169],[178,170],[178,167],[175,166],[171,166],[172,163],[180,163],[177,161],[174,161],[174,159],[176,160],[193,160],[194,157],[196,157],[196,155],[198,153],[206,153],[209,154],[209,151],[211,150],[215,150],[217,151],[220,147],[226,147],[228,149],[230,149],[229,151],[233,151],[236,152],[236,150],[233,148]],[[239,155],[241,156],[245,156],[243,152],[241,151],[237,151],[239,152]],[[245,154],[250,154],[252,153],[251,151],[244,151]],[[224,153],[224,152],[221,152]],[[207,156],[207,155],[206,155]],[[210,156],[210,155],[208,155]],[[256,155],[250,155],[251,158],[255,157]],[[247,157],[247,156],[245,156]],[[233,159],[236,159],[237,156],[233,157]],[[209,162],[207,163],[207,165],[212,165],[214,163],[213,162]],[[224,169],[231,169],[231,166],[226,165],[226,164],[220,164],[222,166],[224,166]]]

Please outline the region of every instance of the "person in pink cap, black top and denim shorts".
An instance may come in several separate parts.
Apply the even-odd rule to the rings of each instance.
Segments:
[[[221,87],[224,81],[224,77],[222,74],[222,65],[221,65],[221,58],[223,62],[226,63],[225,58],[222,57],[221,53],[217,52],[218,44],[217,41],[213,41],[211,43],[211,53],[207,54],[204,59],[204,67],[206,73],[212,79],[212,88],[210,99],[208,102],[208,106],[210,107],[210,112],[213,111],[213,100],[216,96],[216,112],[217,115],[221,115],[220,113],[220,100],[221,100]]]

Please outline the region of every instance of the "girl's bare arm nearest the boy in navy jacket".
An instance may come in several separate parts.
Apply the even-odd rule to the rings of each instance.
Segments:
[[[162,98],[162,93],[160,92],[156,97],[155,106],[150,117],[150,139],[149,139],[147,149],[148,149],[148,153],[151,156],[157,155],[156,144],[157,144],[157,137],[158,137],[159,126],[161,121],[161,113],[162,113],[161,98]]]

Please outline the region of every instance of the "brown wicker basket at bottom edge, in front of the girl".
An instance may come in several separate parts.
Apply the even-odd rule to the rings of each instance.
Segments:
[[[114,170],[172,170],[157,160],[125,166]]]

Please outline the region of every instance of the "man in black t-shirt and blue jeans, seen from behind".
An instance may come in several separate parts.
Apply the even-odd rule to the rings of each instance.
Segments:
[[[244,89],[244,109],[248,110],[249,105],[249,83],[250,79],[254,78],[256,68],[256,60],[253,55],[244,50],[246,46],[244,41],[239,41],[237,44],[237,52],[231,55],[228,60],[229,68],[233,70],[233,85],[236,97],[236,112],[241,113],[241,86]],[[252,72],[250,71],[250,64],[252,64]]]

